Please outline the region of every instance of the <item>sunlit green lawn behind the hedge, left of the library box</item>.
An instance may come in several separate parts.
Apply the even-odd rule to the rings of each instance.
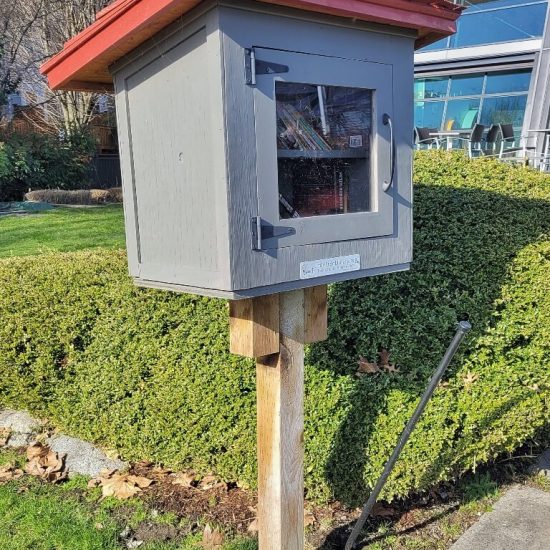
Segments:
[[[97,247],[124,247],[121,205],[0,217],[0,258]]]

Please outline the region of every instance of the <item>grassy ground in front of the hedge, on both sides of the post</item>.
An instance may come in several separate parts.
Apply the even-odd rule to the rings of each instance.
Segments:
[[[0,467],[9,463],[23,468],[24,462],[21,451],[0,448]],[[448,487],[446,502],[423,505],[411,501],[393,519],[371,518],[360,547],[447,550],[481,514],[491,510],[510,484],[525,483],[550,491],[547,478],[523,473],[527,464],[519,471],[500,467],[468,475]],[[341,550],[349,526],[342,538],[338,521],[326,515],[323,518],[320,510],[316,514],[317,524],[307,528],[306,549]],[[221,546],[203,543],[208,513],[205,516],[197,525],[159,511],[156,502],[146,497],[102,499],[101,489],[89,488],[81,476],[52,485],[25,475],[0,483],[0,550],[125,550],[135,540],[143,540],[141,550],[258,550],[255,538],[234,533],[226,533]]]

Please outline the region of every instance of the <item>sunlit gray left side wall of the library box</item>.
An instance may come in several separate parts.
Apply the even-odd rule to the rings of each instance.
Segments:
[[[137,220],[128,247],[135,276],[228,288],[222,62],[207,19],[216,31],[204,18],[118,73]]]

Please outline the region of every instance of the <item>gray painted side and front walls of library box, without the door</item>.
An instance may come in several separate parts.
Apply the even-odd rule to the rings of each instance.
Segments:
[[[277,16],[259,3],[209,6],[112,69],[129,264],[138,284],[239,298],[406,269],[412,258],[414,37],[293,10]],[[386,94],[396,125],[390,231],[365,227],[363,237],[382,236],[352,240],[338,226],[353,223],[353,215],[341,215],[349,219],[320,228],[332,242],[252,250],[250,220],[261,214],[257,184],[268,179],[265,163],[258,162],[257,90],[245,83],[245,48],[252,47],[390,67],[391,77],[382,78],[377,92]],[[348,78],[348,65],[353,61],[334,69],[338,81]],[[374,155],[378,180],[389,170],[387,136],[381,133],[380,140]],[[301,262],[354,254],[360,255],[360,271],[300,280]]]

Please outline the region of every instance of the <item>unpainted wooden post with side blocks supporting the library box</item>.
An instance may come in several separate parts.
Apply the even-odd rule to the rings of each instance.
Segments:
[[[263,307],[270,307],[268,320]],[[278,353],[257,357],[258,527],[260,550],[304,548],[304,343],[326,339],[326,287],[278,295],[278,307],[264,298],[243,304],[239,322],[231,323],[232,342],[258,332],[258,320],[279,327]],[[252,312],[247,323],[243,308]],[[254,314],[254,312],[256,312]],[[261,329],[260,329],[261,332]],[[262,339],[263,340],[263,339]],[[269,340],[269,339],[268,339]],[[245,351],[250,345],[239,346]],[[236,349],[234,346],[232,349]]]

